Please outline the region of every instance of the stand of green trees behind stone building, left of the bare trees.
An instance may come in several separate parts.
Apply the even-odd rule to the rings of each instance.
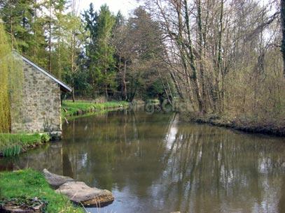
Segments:
[[[12,47],[18,45],[22,54],[67,82],[76,96],[129,101],[148,96],[144,92],[158,78],[155,66],[162,47],[151,15],[137,8],[126,20],[106,4],[95,11],[91,3],[81,20],[74,5],[66,0],[1,1],[0,16]]]

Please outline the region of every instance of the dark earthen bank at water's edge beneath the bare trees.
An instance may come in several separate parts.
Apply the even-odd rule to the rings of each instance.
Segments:
[[[227,117],[225,115],[200,115],[195,112],[181,112],[183,122],[196,122],[232,128],[247,133],[261,133],[266,135],[285,136],[285,121],[266,121],[265,119],[253,119],[250,117]]]

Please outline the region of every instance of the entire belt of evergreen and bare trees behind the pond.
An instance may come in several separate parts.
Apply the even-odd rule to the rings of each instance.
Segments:
[[[73,98],[158,98],[202,114],[284,115],[284,1],[141,0],[129,17],[92,4],[79,14],[76,5],[0,3],[12,47],[74,87]]]

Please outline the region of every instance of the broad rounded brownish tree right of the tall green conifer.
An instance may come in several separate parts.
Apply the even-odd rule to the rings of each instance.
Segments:
[[[161,61],[165,47],[158,22],[144,8],[139,7],[126,23],[125,34],[128,49],[124,50],[123,58],[126,55],[129,57],[126,82],[130,82],[127,85],[127,99],[132,101],[137,96],[146,100],[162,96],[165,89],[162,87],[160,91],[159,88],[154,88],[162,86],[158,69],[164,78],[169,77],[165,75],[167,69]]]

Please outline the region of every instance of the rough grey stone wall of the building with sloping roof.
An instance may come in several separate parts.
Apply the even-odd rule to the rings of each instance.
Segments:
[[[23,62],[20,113],[11,112],[12,133],[62,131],[60,85],[34,66]]]

